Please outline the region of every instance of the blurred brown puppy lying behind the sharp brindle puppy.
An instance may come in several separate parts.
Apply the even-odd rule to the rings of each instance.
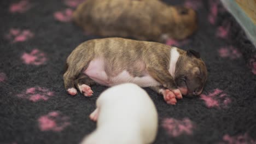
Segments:
[[[159,42],[184,39],[197,28],[193,9],[159,0],[86,0],[73,18],[90,34]]]

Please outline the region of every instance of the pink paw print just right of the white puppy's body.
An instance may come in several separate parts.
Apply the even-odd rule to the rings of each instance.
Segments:
[[[192,135],[195,125],[188,118],[182,120],[165,118],[162,122],[162,127],[165,128],[168,135],[177,137],[182,134]]]

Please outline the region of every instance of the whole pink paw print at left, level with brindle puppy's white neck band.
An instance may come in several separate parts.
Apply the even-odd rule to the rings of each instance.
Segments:
[[[45,54],[38,49],[33,49],[30,53],[24,52],[21,59],[25,64],[41,65],[46,61]]]

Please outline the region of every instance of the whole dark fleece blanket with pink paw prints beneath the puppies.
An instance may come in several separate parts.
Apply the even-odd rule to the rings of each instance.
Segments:
[[[73,97],[62,80],[69,53],[83,41],[101,38],[72,22],[81,2],[0,1],[1,144],[79,143],[96,128],[89,115],[107,87],[92,86],[92,97]],[[145,88],[159,113],[154,143],[256,143],[255,47],[219,1],[164,2],[197,10],[198,31],[167,44],[199,51],[208,79],[199,97],[184,97],[176,105]]]

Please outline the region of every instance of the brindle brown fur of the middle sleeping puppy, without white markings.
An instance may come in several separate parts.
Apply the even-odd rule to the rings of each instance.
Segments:
[[[171,49],[171,46],[160,43],[123,38],[85,41],[67,58],[68,68],[63,75],[65,87],[66,89],[74,87],[74,81],[84,77],[79,74],[88,68],[89,63],[95,58],[103,58],[104,70],[109,77],[116,76],[124,70],[134,77],[149,74],[168,89],[177,89],[179,77],[188,76],[192,82],[194,77],[199,77],[199,81],[194,82],[198,86],[194,89],[190,89],[190,86],[188,88],[194,91],[202,87],[207,77],[207,70],[202,59],[187,56],[186,51],[178,49],[181,56],[176,64],[175,76],[172,77],[168,71]],[[84,78],[82,83],[92,84],[89,77]]]

